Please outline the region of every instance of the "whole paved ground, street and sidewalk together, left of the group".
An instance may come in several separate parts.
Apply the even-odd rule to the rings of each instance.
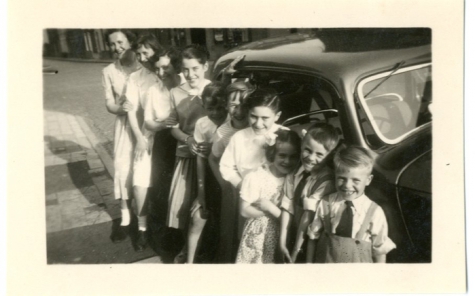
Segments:
[[[102,95],[105,64],[46,63],[59,71],[43,75],[48,264],[170,262],[156,243],[163,233],[159,223],[150,221],[150,248],[144,252],[135,251],[136,221],[129,239],[109,239],[120,223],[120,205],[112,160],[101,148],[111,154],[114,123]]]

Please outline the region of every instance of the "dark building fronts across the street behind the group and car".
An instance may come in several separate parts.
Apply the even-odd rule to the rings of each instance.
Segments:
[[[211,60],[242,44],[295,33],[317,36],[325,44],[326,51],[380,50],[431,43],[429,28],[174,28],[131,31],[137,36],[152,33],[165,48],[192,43],[205,45]],[[43,56],[111,59],[105,32],[106,29],[46,29],[43,31]]]

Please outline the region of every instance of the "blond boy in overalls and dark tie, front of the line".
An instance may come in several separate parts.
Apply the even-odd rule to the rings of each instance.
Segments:
[[[365,195],[373,179],[373,161],[362,147],[336,153],[337,192],[322,199],[308,228],[307,263],[384,263],[396,247],[388,237],[382,208]]]

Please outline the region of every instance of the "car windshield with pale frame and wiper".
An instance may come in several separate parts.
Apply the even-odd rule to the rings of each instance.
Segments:
[[[397,143],[432,121],[431,66],[412,66],[366,78],[358,85],[358,100],[365,112],[360,118],[364,118],[361,124],[367,140],[377,137],[385,143]]]

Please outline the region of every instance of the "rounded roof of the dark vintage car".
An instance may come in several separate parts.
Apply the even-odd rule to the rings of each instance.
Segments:
[[[431,61],[431,45],[365,52],[324,52],[323,49],[322,41],[310,35],[294,34],[256,41],[221,56],[215,64],[215,75],[239,55],[246,57],[236,67],[238,70],[269,68],[314,73],[335,82],[388,71],[401,61],[404,61],[404,67]]]

